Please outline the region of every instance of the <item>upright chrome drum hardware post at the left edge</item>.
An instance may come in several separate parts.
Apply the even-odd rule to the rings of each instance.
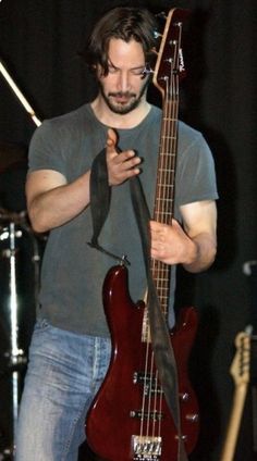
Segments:
[[[3,256],[10,261],[10,279],[9,279],[9,296],[7,310],[9,314],[10,326],[10,351],[4,353],[9,359],[9,369],[12,372],[12,429],[13,440],[16,435],[16,423],[19,413],[20,386],[21,386],[21,367],[26,364],[27,360],[23,349],[19,348],[19,299],[16,285],[16,238],[22,236],[22,230],[16,229],[15,223],[10,222],[9,227],[5,227],[0,238],[9,238],[10,247],[3,251]],[[9,450],[4,454],[10,454]]]

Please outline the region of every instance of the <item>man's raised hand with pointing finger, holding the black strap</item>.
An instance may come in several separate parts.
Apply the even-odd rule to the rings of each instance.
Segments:
[[[110,186],[118,186],[124,183],[130,177],[140,173],[138,164],[140,163],[134,150],[124,150],[118,152],[118,137],[114,129],[108,129],[107,136],[107,169]]]

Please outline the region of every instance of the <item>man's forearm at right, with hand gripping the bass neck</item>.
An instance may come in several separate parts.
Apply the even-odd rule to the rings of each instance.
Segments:
[[[151,257],[167,264],[181,263],[188,272],[200,272],[215,261],[217,252],[217,209],[212,200],[181,207],[183,228],[150,222]]]

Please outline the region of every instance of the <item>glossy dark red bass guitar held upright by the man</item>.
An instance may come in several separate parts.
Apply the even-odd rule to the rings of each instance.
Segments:
[[[154,84],[163,99],[154,219],[163,223],[171,223],[173,213],[179,79],[184,73],[181,36],[186,14],[180,9],[169,12],[154,71]],[[152,260],[151,273],[167,315],[169,266]],[[103,283],[112,356],[88,412],[87,441],[93,451],[107,461],[175,461],[180,436],[155,365],[147,302],[133,303],[127,277],[126,266],[115,265]],[[187,453],[194,449],[199,431],[197,400],[187,378],[187,361],[196,329],[196,311],[185,308],[170,332],[178,367],[181,434]]]

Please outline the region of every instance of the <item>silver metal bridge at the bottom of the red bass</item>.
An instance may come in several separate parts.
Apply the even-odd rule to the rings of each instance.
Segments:
[[[156,461],[161,456],[161,437],[133,435],[134,461]]]

